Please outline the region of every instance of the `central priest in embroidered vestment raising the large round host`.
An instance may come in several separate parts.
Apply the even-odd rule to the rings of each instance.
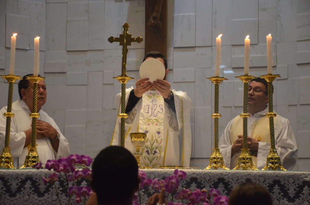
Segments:
[[[189,167],[191,154],[190,105],[191,99],[183,91],[170,89],[165,81],[168,74],[167,61],[163,54],[155,51],[147,53],[144,60],[158,59],[166,68],[163,80],[150,82],[141,78],[136,87],[126,89],[125,147],[132,153],[129,133],[147,134],[146,143],[141,147],[140,164],[144,167],[158,166]],[[143,60],[143,61],[144,61]],[[153,89],[152,89],[153,88]],[[120,103],[121,94],[117,94]],[[118,104],[118,113],[121,113]],[[120,143],[120,119],[117,119],[111,145]]]

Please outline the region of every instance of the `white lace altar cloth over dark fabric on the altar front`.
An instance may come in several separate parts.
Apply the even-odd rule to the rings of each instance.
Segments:
[[[165,179],[172,175],[172,169],[145,169],[147,178]],[[272,194],[273,204],[310,204],[310,172],[249,171],[249,170],[184,170],[187,178],[180,181],[181,188],[215,188],[229,195],[232,188],[242,182],[253,181],[266,187]],[[53,185],[44,185],[42,177],[48,177],[48,170],[0,170],[0,203],[16,204],[59,204]],[[81,181],[87,185],[89,181]],[[57,186],[64,187],[62,182]],[[66,193],[59,189],[61,200]],[[74,198],[72,202],[74,201]],[[144,202],[147,201],[145,197]]]

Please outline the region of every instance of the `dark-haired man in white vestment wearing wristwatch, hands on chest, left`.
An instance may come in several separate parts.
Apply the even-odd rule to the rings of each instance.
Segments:
[[[32,76],[32,74],[29,74]],[[27,76],[29,76],[27,75]],[[13,165],[20,168],[25,161],[25,157],[31,147],[31,123],[29,114],[33,108],[33,83],[23,77],[18,84],[20,99],[12,103],[10,147],[13,157]],[[44,81],[38,83],[38,113],[40,117],[37,121],[36,147],[39,160],[45,164],[48,159],[59,159],[69,155],[69,143],[60,132],[55,121],[42,110],[42,106],[47,99],[46,85]],[[6,117],[3,113],[7,107],[0,110],[0,147],[4,147]]]

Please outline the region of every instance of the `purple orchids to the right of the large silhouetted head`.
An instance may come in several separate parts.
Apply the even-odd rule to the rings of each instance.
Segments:
[[[178,169],[174,171],[173,175],[166,177],[165,180],[147,179],[146,173],[141,170],[139,170],[138,176],[141,182],[139,190],[133,199],[133,205],[142,205],[141,200],[146,194],[151,190],[159,192],[162,188],[165,188],[168,194],[167,201],[170,201],[168,205],[227,205],[228,197],[221,196],[219,190],[213,188],[209,191],[206,189],[181,189],[179,187],[180,180],[186,179],[186,172]],[[148,191],[143,194],[142,189],[145,187],[148,187]]]

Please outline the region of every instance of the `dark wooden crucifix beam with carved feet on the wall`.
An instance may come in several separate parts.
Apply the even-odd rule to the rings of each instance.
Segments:
[[[167,57],[167,0],[145,1],[145,49]]]

